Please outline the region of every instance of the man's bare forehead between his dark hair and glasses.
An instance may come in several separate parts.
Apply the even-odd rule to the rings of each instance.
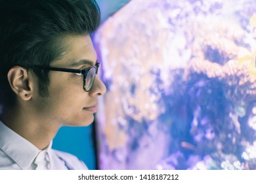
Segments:
[[[76,67],[95,65],[96,52],[89,35],[68,35],[62,38],[65,51],[53,61],[53,66]]]

